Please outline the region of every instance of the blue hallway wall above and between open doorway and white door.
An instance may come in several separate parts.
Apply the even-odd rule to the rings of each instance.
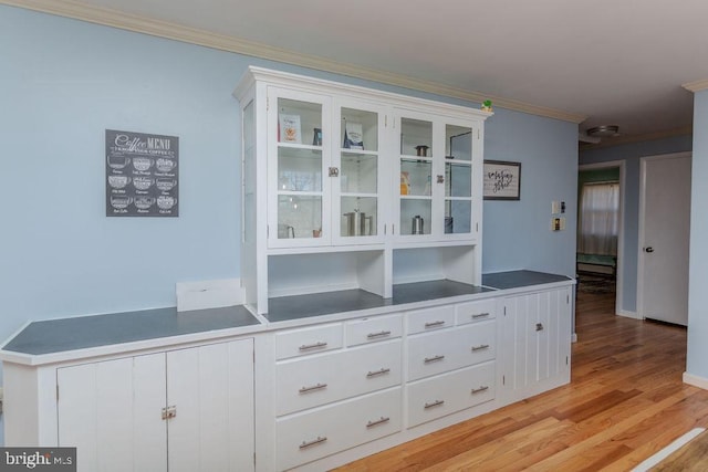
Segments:
[[[589,149],[580,153],[580,164],[625,161],[624,188],[624,253],[622,303],[618,310],[637,311],[637,256],[639,241],[639,158],[662,154],[683,153],[691,149],[691,137],[675,136],[665,139],[632,143],[621,146]]]

